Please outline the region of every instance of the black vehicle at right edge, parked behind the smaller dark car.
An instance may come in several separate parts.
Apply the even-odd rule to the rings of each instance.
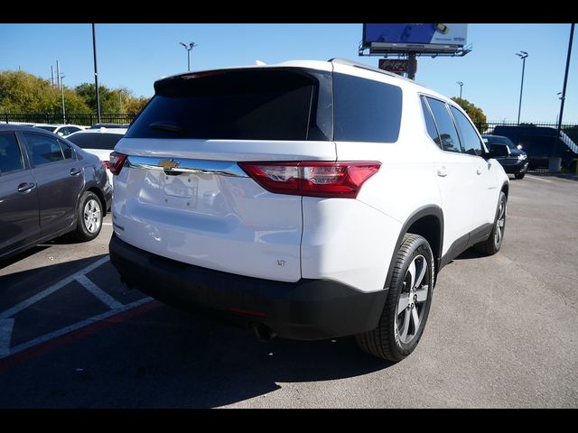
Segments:
[[[563,131],[558,134],[556,128],[499,124],[493,134],[506,136],[513,143],[521,145],[527,153],[528,170],[547,169],[551,157],[560,158],[562,166],[569,170],[578,158],[578,144]]]

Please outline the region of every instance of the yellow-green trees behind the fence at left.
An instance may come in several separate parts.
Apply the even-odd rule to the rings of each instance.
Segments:
[[[135,97],[127,88],[99,85],[100,112],[136,114],[148,98]],[[122,107],[121,107],[122,104]],[[75,88],[64,86],[67,113],[90,114],[97,111],[95,85],[82,83]],[[0,113],[61,113],[61,89],[49,79],[36,77],[23,70],[0,71]]]

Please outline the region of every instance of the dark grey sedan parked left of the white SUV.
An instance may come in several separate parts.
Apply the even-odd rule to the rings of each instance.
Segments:
[[[70,232],[94,239],[111,199],[96,156],[42,129],[0,124],[0,259]]]

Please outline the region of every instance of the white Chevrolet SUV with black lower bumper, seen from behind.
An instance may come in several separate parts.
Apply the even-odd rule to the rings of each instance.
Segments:
[[[399,361],[437,272],[499,251],[508,176],[452,100],[348,60],[190,72],[110,156],[129,287],[258,336],[356,335]]]

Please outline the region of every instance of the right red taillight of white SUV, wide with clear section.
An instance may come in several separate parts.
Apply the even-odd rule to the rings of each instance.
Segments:
[[[238,162],[267,191],[309,197],[356,198],[378,172],[377,161]]]

